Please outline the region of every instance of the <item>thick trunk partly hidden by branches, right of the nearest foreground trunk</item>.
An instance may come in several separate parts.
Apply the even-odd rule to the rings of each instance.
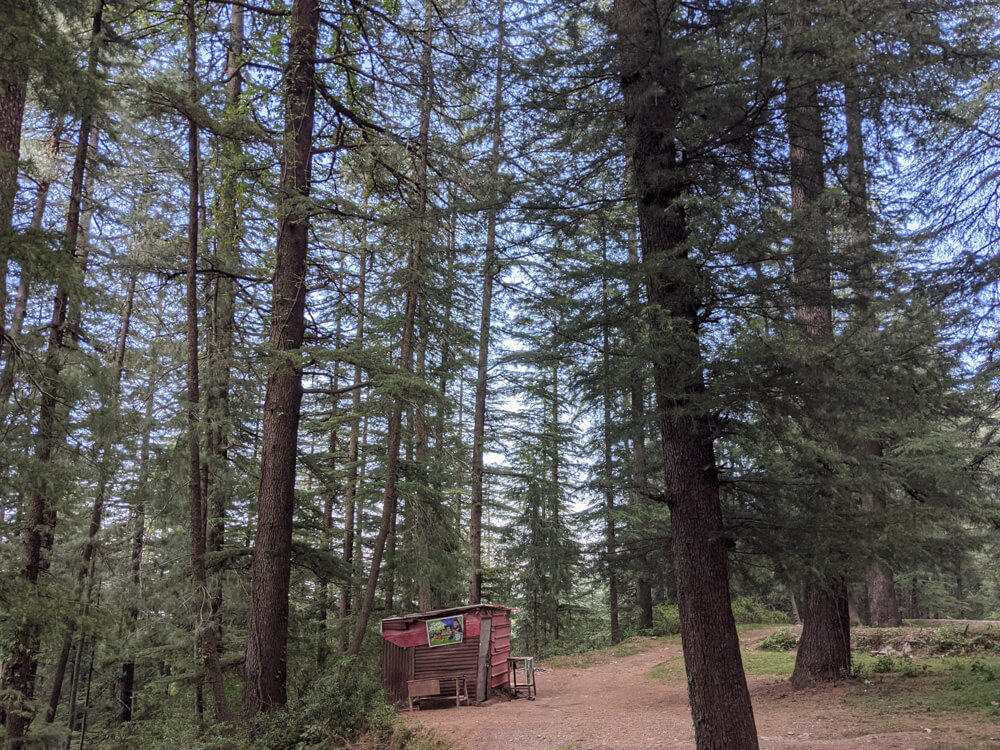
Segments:
[[[797,49],[795,32],[810,20],[803,15],[790,23],[786,41],[793,57],[806,61],[811,53]],[[808,76],[789,76],[785,108],[792,211],[792,299],[796,319],[810,339],[822,343],[833,337],[833,290],[829,240],[822,216],[825,144],[816,81]],[[832,564],[821,561],[821,565]],[[792,685],[796,687],[844,677],[850,671],[847,585],[834,571],[826,570],[822,575],[823,580],[806,583],[799,601],[803,630],[792,674]]]

